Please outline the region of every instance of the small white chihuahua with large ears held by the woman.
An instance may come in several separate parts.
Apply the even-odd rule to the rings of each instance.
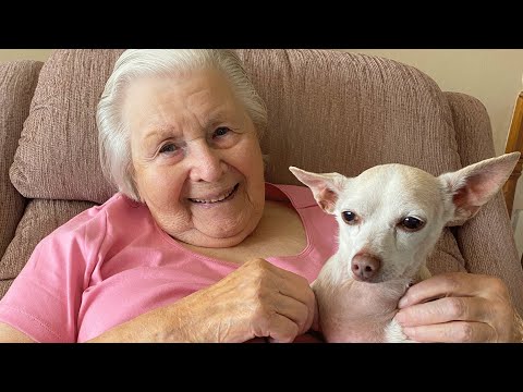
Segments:
[[[291,167],[339,224],[339,248],[312,283],[327,342],[406,342],[393,317],[446,225],[472,218],[504,184],[520,152],[434,176],[403,164],[355,177]]]

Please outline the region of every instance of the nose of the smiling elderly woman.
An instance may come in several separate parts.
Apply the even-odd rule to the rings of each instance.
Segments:
[[[188,147],[191,181],[215,182],[227,171],[220,150],[211,148],[205,140],[193,140]]]

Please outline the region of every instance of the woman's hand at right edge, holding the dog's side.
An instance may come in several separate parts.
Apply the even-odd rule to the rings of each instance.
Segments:
[[[433,301],[434,299],[434,301]],[[521,318],[494,277],[443,273],[411,286],[396,320],[417,342],[521,342]]]

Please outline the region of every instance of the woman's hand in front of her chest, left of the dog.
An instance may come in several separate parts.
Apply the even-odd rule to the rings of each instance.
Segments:
[[[174,306],[186,341],[292,342],[311,328],[316,303],[305,278],[255,259]]]

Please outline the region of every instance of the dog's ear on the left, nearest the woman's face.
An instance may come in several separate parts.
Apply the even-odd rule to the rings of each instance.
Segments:
[[[335,213],[336,201],[343,188],[344,176],[339,173],[311,173],[290,167],[289,170],[313,192],[316,203],[325,212]]]

